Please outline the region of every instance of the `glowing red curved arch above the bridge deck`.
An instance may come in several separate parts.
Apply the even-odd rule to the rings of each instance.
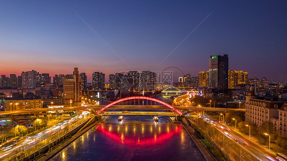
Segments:
[[[158,102],[160,104],[163,104],[165,106],[168,106],[168,108],[172,109],[173,111],[175,111],[176,113],[178,113],[180,116],[182,115],[182,113],[177,110],[176,108],[174,108],[172,105],[168,104],[168,103],[165,103],[161,100],[158,100],[158,99],[155,99],[155,98],[151,98],[151,97],[145,97],[145,96],[132,96],[132,97],[126,97],[126,98],[122,98],[122,99],[119,99],[119,100],[116,100],[106,106],[104,106],[104,108],[102,108],[101,110],[99,110],[97,112],[97,114],[100,114],[101,112],[103,112],[104,110],[106,110],[107,108],[109,108],[109,106],[112,106],[116,103],[119,103],[119,102],[123,102],[123,101],[126,101],[126,100],[131,100],[131,99],[145,99],[145,100],[151,100],[151,101],[155,101],[155,102]]]

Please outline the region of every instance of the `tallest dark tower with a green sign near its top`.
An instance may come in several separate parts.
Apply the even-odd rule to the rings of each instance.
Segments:
[[[209,86],[227,92],[228,55],[209,57]]]

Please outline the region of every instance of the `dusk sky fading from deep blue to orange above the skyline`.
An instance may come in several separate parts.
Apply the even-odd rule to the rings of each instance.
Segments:
[[[0,74],[77,63],[89,77],[169,66],[197,76],[210,55],[228,54],[229,69],[287,82],[286,16],[286,1],[1,1]]]

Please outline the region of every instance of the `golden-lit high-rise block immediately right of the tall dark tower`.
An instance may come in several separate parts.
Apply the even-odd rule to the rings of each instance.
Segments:
[[[239,84],[248,84],[248,72],[228,70],[228,88],[234,89]]]

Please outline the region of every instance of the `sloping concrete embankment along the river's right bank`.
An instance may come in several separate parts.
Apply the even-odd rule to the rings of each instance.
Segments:
[[[186,121],[185,121],[186,122]],[[213,155],[209,152],[207,147],[195,136],[195,130],[189,126],[187,126],[185,123],[180,122],[180,124],[183,126],[183,128],[186,130],[190,138],[192,138],[193,142],[207,161],[215,161],[216,158],[213,157]]]

